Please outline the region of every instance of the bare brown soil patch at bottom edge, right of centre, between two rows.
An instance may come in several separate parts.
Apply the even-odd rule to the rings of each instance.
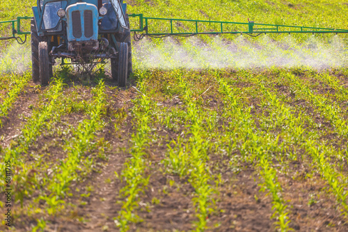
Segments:
[[[271,201],[260,192],[260,180],[253,167],[242,167],[238,173],[223,171],[222,180],[216,204],[220,212],[209,218],[211,224],[221,226],[212,231],[274,231]]]

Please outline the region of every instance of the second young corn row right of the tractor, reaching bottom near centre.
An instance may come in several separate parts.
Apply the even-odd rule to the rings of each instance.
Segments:
[[[178,173],[181,178],[189,177],[189,183],[194,187],[196,194],[193,196],[193,206],[196,208],[196,231],[207,229],[209,213],[213,211],[212,194],[214,187],[210,184],[214,178],[209,171],[208,151],[212,147],[209,137],[206,134],[214,128],[216,115],[205,112],[193,97],[192,86],[189,80],[179,74],[176,75],[176,82],[186,111],[182,116],[188,123],[188,129],[184,132],[184,138],[177,137],[172,141],[172,148],[168,145],[167,159],[164,160],[166,167],[173,173]]]

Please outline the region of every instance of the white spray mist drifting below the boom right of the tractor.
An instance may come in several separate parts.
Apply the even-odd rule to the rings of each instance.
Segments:
[[[296,68],[315,70],[347,67],[347,49],[339,36],[324,43],[315,36],[297,44],[292,36],[274,41],[267,35],[258,40],[237,36],[224,41],[216,36],[205,44],[198,38],[187,38],[178,43],[164,39],[159,46],[145,38],[134,43],[133,57],[136,68]]]

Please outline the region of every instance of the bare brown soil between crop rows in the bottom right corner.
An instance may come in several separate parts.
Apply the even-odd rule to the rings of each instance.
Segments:
[[[305,165],[292,162],[287,171],[294,174],[278,178],[285,201],[291,203],[290,226],[297,231],[333,231],[333,227],[335,231],[348,231],[345,218],[338,213],[339,204],[328,192],[329,186],[319,174],[310,175],[310,167]]]

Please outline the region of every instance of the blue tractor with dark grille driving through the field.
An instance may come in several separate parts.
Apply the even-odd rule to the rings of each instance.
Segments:
[[[132,43],[123,0],[37,0],[31,18],[33,81],[47,85],[56,59],[98,63],[110,59],[111,76],[126,86]]]

